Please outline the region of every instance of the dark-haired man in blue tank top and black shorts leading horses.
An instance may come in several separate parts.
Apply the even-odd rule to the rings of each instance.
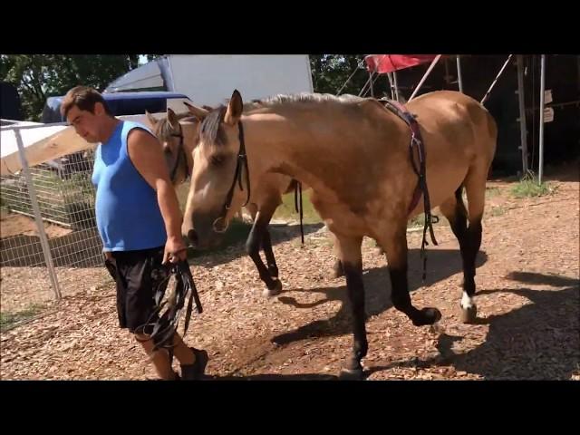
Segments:
[[[189,348],[176,332],[173,353],[181,364],[179,378],[167,351],[153,352],[148,335],[155,291],[163,285],[162,265],[187,258],[179,202],[159,140],[145,126],[115,118],[92,88],[73,88],[61,111],[84,140],[101,142],[92,173],[95,212],[105,263],[117,284],[121,328],[135,334],[161,379],[199,379],[208,362],[206,351]]]

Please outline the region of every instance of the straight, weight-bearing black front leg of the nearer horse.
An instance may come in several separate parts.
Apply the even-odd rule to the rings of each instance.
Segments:
[[[353,355],[343,366],[342,379],[361,380],[363,378],[361,360],[366,356],[366,314],[364,312],[364,285],[362,284],[362,237],[335,237],[336,252],[339,254],[346,287],[353,313]]]

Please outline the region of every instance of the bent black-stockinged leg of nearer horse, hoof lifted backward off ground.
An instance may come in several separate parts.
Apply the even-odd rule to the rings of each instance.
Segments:
[[[415,326],[434,324],[441,318],[437,308],[415,308],[411,303],[407,282],[407,219],[390,219],[389,233],[380,239],[387,253],[391,275],[391,301],[394,307],[411,319]]]

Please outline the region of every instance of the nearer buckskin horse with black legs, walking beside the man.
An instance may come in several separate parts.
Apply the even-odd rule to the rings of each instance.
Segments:
[[[333,234],[353,313],[353,354],[341,375],[361,379],[368,351],[362,237],[374,238],[386,252],[394,307],[417,326],[440,320],[437,308],[412,304],[407,283],[407,222],[425,212],[424,247],[431,208],[440,208],[459,240],[459,305],[463,322],[475,321],[475,260],[497,142],[496,122],[481,104],[460,92],[439,91],[405,107],[325,94],[278,95],[245,105],[234,91],[227,105],[191,111],[201,122],[184,236],[200,248],[215,244],[232,210],[266,174],[308,185]]]

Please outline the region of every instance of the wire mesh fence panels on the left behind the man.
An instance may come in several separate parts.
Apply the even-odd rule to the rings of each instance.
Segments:
[[[30,168],[63,295],[110,280],[102,267],[102,241],[96,229],[93,161],[92,151],[86,151]],[[0,178],[2,311],[53,298],[31,193],[23,173]]]

